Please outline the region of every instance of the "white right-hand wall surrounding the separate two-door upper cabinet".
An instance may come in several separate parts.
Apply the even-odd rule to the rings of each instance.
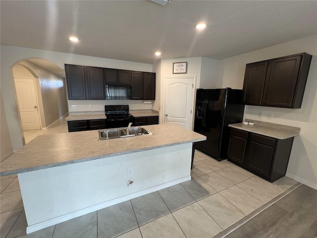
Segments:
[[[246,106],[244,118],[301,128],[294,138],[286,175],[317,188],[317,35],[249,52],[220,61],[222,87],[242,89],[246,63],[297,53],[313,55],[301,109]],[[262,112],[262,119],[258,113]],[[273,119],[267,119],[273,113]]]

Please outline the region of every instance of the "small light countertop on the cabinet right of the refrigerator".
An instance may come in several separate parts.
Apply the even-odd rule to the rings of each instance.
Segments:
[[[260,135],[273,137],[276,139],[287,139],[299,135],[301,128],[281,125],[275,123],[268,123],[264,121],[245,119],[245,121],[253,121],[254,125],[245,125],[242,123],[229,124],[229,127],[233,127],[240,130],[245,130]]]

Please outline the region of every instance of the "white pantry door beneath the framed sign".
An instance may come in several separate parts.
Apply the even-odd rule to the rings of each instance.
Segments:
[[[192,129],[195,77],[165,77],[164,123]]]

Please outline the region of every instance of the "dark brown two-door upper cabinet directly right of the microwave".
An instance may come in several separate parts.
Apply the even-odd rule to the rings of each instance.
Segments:
[[[132,99],[155,100],[155,73],[132,71]]]

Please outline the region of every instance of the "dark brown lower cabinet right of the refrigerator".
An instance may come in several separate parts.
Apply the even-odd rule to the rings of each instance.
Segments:
[[[273,182],[286,174],[293,139],[275,139],[230,128],[228,160]]]

